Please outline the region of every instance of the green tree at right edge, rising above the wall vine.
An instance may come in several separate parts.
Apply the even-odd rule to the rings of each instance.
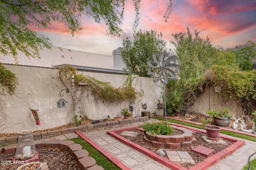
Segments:
[[[240,70],[248,71],[252,68],[252,60],[256,57],[255,43],[248,41],[244,46],[238,45],[232,50],[236,56],[236,63]]]

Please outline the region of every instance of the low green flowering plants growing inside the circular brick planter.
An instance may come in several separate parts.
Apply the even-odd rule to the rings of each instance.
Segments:
[[[144,129],[144,131],[150,132],[150,135],[172,135],[172,126],[170,124],[166,124],[164,122],[144,122],[140,125]]]

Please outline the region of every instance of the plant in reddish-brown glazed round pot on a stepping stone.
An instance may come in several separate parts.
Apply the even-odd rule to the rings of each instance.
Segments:
[[[219,139],[220,127],[212,126],[212,118],[208,117],[201,120],[201,125],[206,129],[206,135],[210,139]]]

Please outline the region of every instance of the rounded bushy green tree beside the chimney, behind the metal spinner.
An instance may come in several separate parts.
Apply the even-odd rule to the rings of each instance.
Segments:
[[[166,42],[162,39],[162,33],[156,30],[139,30],[133,34],[134,40],[128,37],[123,39],[121,56],[126,65],[125,70],[142,77],[149,77],[147,61],[153,59],[153,53],[161,54],[165,50]]]

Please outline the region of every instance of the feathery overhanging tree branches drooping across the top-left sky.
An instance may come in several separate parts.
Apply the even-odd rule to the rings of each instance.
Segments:
[[[17,50],[28,57],[38,57],[43,47],[50,48],[48,37],[32,31],[32,27],[50,27],[61,22],[74,33],[82,29],[81,21],[89,16],[95,22],[104,20],[107,34],[120,36],[126,0],[0,0],[0,52],[17,56]],[[134,29],[138,25],[140,0],[133,0],[136,12]],[[172,1],[164,16],[172,12]]]

